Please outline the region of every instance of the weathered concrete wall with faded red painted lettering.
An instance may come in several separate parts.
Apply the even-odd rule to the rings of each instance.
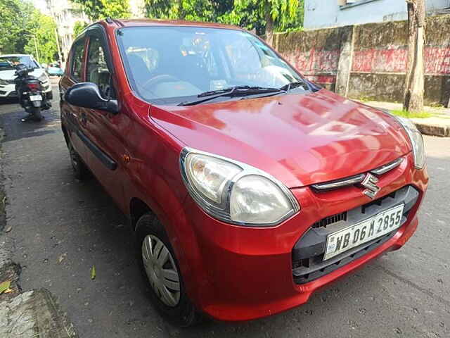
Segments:
[[[427,19],[425,102],[450,97],[450,15]],[[278,34],[275,48],[310,80],[359,99],[403,101],[406,21]],[[338,86],[336,85],[338,83]]]

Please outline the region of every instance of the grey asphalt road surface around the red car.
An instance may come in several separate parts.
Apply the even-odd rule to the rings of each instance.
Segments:
[[[449,138],[425,137],[430,187],[420,227],[403,249],[291,311],[179,329],[146,298],[124,216],[95,180],[72,176],[58,101],[53,106],[45,122],[23,124],[18,104],[0,104],[12,227],[2,240],[23,267],[23,289],[46,287],[58,296],[80,337],[450,337]]]

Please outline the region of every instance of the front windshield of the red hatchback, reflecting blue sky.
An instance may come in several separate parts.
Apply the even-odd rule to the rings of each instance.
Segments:
[[[236,86],[281,88],[303,81],[261,40],[239,30],[124,27],[117,40],[131,87],[155,104]],[[231,98],[217,98],[224,99]]]

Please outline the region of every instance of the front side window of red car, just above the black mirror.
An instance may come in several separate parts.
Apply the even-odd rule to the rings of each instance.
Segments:
[[[97,84],[105,99],[115,98],[110,71],[105,61],[105,51],[98,37],[91,37],[89,42],[86,81]]]

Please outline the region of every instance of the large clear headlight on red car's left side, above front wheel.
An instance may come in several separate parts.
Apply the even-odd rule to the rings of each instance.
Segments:
[[[181,151],[180,163],[189,194],[226,223],[272,226],[300,210],[287,187],[245,163],[189,148]]]

